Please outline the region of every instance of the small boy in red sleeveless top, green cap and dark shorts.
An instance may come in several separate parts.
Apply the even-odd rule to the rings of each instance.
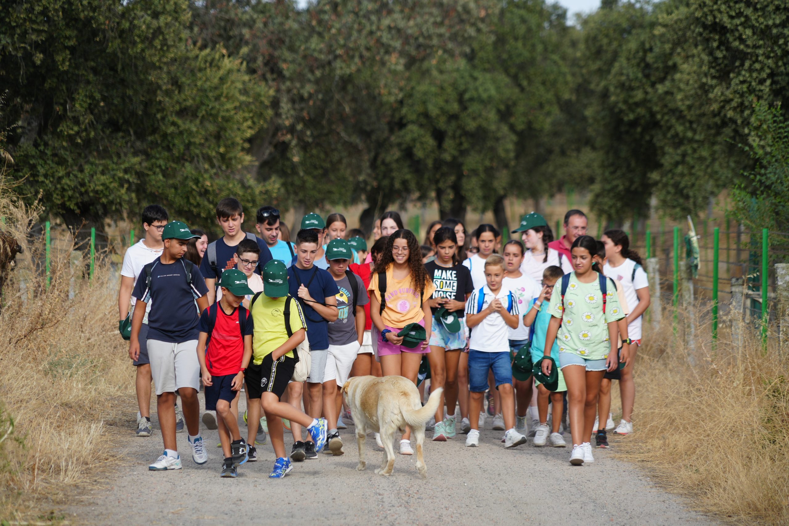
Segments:
[[[222,477],[235,478],[237,467],[254,458],[238,431],[238,392],[244,384],[241,362],[252,356],[252,316],[241,305],[252,294],[241,270],[222,272],[222,298],[200,315],[197,359],[205,386],[205,408],[216,411],[219,441],[222,442]]]

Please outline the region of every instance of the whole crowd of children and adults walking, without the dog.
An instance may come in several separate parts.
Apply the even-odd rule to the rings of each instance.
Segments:
[[[526,433],[534,446],[564,447],[561,431],[570,431],[570,463],[592,462],[590,437],[608,447],[613,427],[611,379],[623,401],[615,433],[633,430],[633,364],[649,289],[621,230],[596,241],[585,235],[585,215],[570,211],[565,235],[554,240],[532,213],[513,232],[522,239],[502,247],[494,226],[466,233],[447,219],[428,229],[424,247],[390,211],[376,221],[368,251],[365,234],[349,231],[339,214],[325,222],[306,215],[295,243],[282,239],[274,207],[257,211],[262,237],[243,231],[233,198],[219,202],[216,218],[224,235],[208,244],[162,207],[146,207],[145,237],[124,257],[118,306],[137,367],[137,435],[151,435],[152,379],[164,442],[152,471],[181,468],[175,435],[182,427],[193,461],[208,461],[201,383],[203,423],[219,429],[222,477],[256,461],[268,437],[272,478],[324,449],[342,455],[338,429],[349,415],[340,388],[351,375],[417,383],[421,367],[429,368],[431,388],[444,388],[438,442],[457,435],[459,405],[466,446],[479,446],[488,393],[505,448],[527,442]],[[294,438],[290,453],[285,430]],[[406,429],[401,454],[413,454],[409,438]]]

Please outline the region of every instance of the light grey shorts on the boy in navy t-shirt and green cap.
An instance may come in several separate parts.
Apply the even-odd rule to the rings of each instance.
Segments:
[[[200,361],[197,340],[170,343],[148,340],[148,357],[156,395],[174,393],[181,387],[200,390]]]

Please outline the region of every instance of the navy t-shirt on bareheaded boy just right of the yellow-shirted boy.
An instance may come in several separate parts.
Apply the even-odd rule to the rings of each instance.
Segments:
[[[296,265],[288,267],[288,288],[290,295],[301,304],[301,311],[307,319],[307,338],[310,349],[320,351],[329,348],[329,324],[318,314],[308,301],[298,297],[299,282],[309,290],[313,300],[323,303],[327,297],[336,296],[340,289],[337,288],[335,279],[327,270],[312,265],[309,270],[301,270]]]

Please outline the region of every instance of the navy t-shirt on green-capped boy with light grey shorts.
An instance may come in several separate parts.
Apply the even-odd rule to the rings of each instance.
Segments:
[[[196,340],[198,336],[197,308],[193,290],[197,297],[208,293],[208,287],[197,267],[192,266],[192,286],[186,281],[185,265],[189,261],[178,259],[165,265],[161,257],[154,259],[151,270],[151,311],[148,313],[148,339],[181,343]],[[140,272],[134,285],[133,297],[146,297],[145,269]]]

